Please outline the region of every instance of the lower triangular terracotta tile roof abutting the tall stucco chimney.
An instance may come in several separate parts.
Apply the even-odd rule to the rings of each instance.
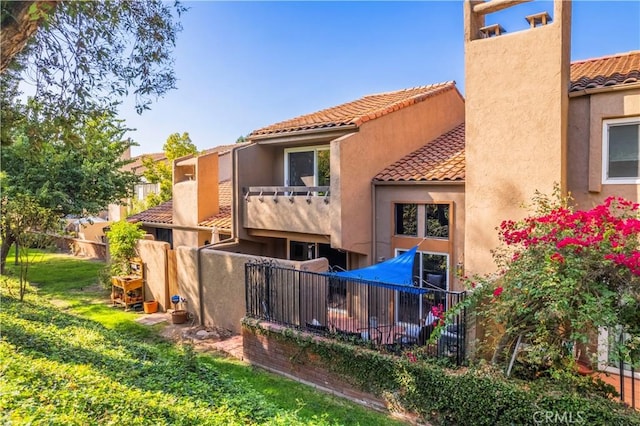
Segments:
[[[401,181],[463,181],[464,123],[440,135],[422,148],[396,161],[373,180]]]

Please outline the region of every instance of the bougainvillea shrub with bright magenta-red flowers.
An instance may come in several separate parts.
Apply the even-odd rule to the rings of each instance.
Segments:
[[[610,197],[574,210],[557,194],[537,194],[535,214],[505,221],[494,254],[498,273],[468,279],[467,305],[495,323],[485,340],[493,361],[507,363],[515,341],[534,370],[575,367],[599,327],[621,326],[630,338],[613,353],[640,360],[640,218],[638,204]],[[487,303],[489,301],[489,303]],[[592,340],[591,340],[592,341]]]

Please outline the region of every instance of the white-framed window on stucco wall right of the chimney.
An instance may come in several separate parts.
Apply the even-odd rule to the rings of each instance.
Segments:
[[[602,125],[602,183],[640,183],[640,117]]]

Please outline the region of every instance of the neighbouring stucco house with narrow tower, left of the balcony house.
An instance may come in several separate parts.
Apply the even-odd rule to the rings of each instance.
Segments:
[[[242,144],[205,150],[173,164],[173,199],[131,215],[155,240],[199,247],[232,235],[231,152]]]

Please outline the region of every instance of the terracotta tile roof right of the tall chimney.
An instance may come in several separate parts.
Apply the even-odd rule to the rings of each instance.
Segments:
[[[640,50],[571,64],[569,92],[640,82]]]

